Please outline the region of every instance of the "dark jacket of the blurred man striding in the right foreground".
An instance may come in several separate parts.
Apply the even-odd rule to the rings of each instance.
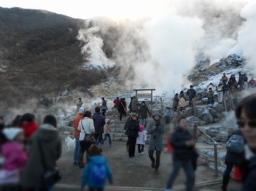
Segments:
[[[188,130],[183,131],[182,128],[176,127],[175,131],[171,134],[171,145],[173,146],[174,160],[191,160],[193,146],[186,146],[186,141],[191,140],[192,135]]]

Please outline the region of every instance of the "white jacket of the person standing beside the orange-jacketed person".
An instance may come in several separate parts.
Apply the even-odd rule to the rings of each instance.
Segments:
[[[82,127],[82,123],[83,123],[83,127]],[[83,130],[83,128],[85,130]],[[80,141],[83,141],[84,138],[85,138],[85,133],[87,134],[92,134],[95,132],[95,129],[94,129],[94,120],[92,120],[91,118],[83,118],[80,122],[79,122],[79,125],[78,125],[78,130],[81,131],[80,133],[80,137],[79,137],[79,140]]]

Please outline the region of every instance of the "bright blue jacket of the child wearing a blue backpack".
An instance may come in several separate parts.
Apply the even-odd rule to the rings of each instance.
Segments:
[[[104,165],[106,167],[107,178],[109,179],[110,183],[113,182],[113,176],[109,168],[109,164],[107,164],[107,158],[104,156],[95,155],[95,156],[91,156],[88,159],[88,163],[86,164],[83,170],[83,177],[82,177],[82,183],[81,183],[82,186],[85,186],[86,184],[88,184],[90,188],[97,189],[97,188],[102,188],[106,185],[106,182],[102,184],[94,183],[92,178],[92,172],[91,172],[93,164]]]

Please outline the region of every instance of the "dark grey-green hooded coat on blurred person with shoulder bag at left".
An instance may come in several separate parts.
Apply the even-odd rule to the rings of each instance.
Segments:
[[[45,189],[43,175],[46,170],[54,170],[56,161],[61,157],[61,139],[59,131],[49,124],[41,125],[29,140],[31,148],[29,159],[22,176],[22,187],[25,189]],[[46,170],[40,152],[40,144],[46,158]]]

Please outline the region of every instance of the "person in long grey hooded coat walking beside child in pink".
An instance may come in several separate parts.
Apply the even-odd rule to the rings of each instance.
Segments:
[[[162,134],[165,131],[165,125],[160,121],[161,115],[155,112],[152,116],[153,120],[149,124],[147,133],[150,134],[149,139],[149,158],[151,160],[151,167],[155,168],[155,174],[159,174],[158,168],[160,165],[160,155],[162,151]],[[156,159],[153,157],[153,153],[156,151]]]

